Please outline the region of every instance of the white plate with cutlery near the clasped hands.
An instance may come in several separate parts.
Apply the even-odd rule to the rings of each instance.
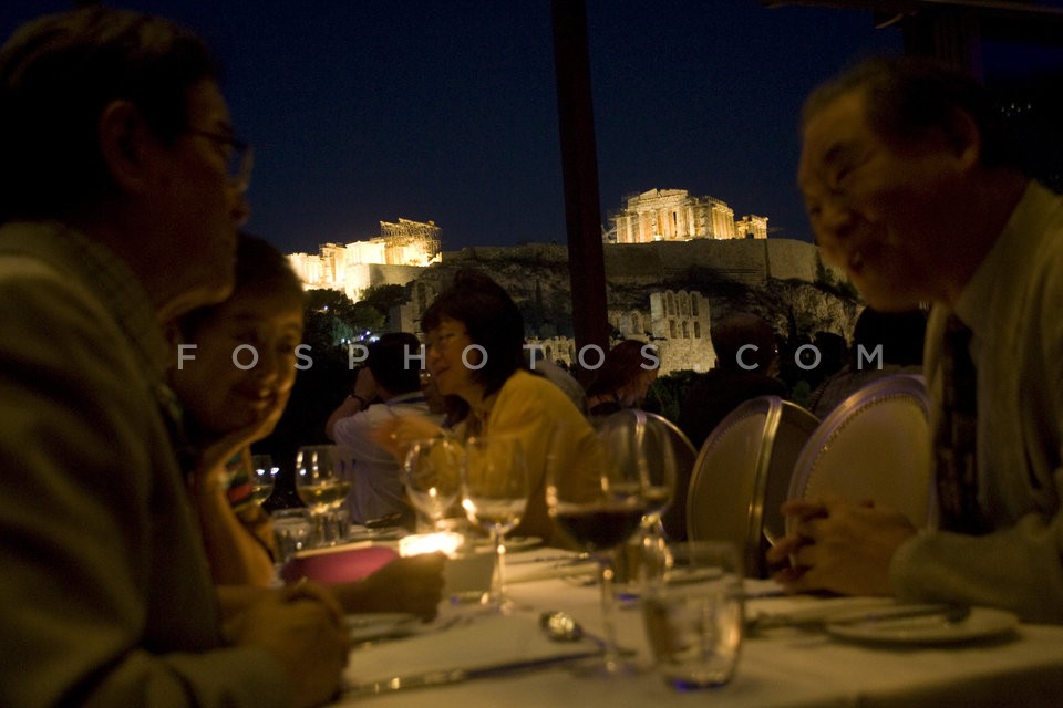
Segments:
[[[886,644],[952,644],[983,639],[1013,632],[1019,617],[1003,610],[971,607],[971,614],[959,622],[941,615],[869,620],[855,624],[828,624],[827,633],[846,639]]]

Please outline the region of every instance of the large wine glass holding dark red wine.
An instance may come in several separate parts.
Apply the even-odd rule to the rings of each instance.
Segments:
[[[661,507],[651,472],[661,464],[656,436],[637,417],[620,412],[589,426],[558,425],[547,454],[546,504],[558,530],[598,561],[601,590],[602,659],[589,674],[623,676],[639,667],[625,660],[613,627],[615,554]],[[657,492],[657,493],[654,493]]]

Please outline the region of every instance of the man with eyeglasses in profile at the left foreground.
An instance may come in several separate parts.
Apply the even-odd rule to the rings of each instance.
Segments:
[[[101,8],[0,49],[0,705],[290,706],[347,635],[300,585],[229,615],[175,441],[163,322],[233,288],[247,146],[168,21]]]

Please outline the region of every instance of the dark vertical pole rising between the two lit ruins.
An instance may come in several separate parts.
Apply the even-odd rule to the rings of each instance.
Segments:
[[[590,96],[587,9],[584,0],[553,0],[553,14],[572,329],[577,351],[589,344],[608,351],[606,267]]]

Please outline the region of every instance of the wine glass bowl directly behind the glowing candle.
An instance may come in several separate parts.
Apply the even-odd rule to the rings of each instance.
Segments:
[[[406,452],[402,483],[432,531],[442,530],[442,520],[457,501],[462,457],[462,446],[445,435],[417,440]]]

